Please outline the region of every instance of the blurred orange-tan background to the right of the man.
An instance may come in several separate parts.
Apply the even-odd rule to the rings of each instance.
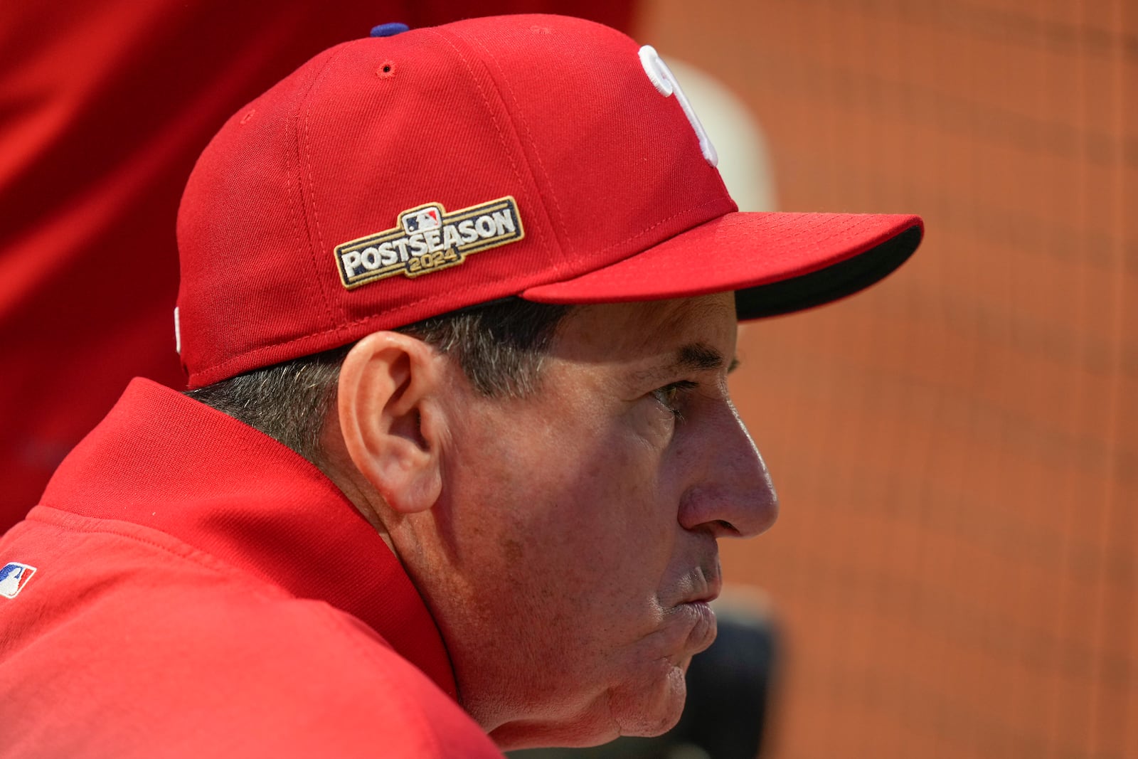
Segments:
[[[743,333],[768,756],[1138,757],[1138,3],[654,0],[636,36],[745,100],[780,208],[927,224]]]

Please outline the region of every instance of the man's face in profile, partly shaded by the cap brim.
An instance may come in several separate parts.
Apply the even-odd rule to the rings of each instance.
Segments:
[[[670,727],[711,644],[716,539],[775,520],[727,396],[733,297],[584,306],[536,393],[442,403],[426,591],[460,694],[503,748]],[[422,548],[421,548],[422,551]]]

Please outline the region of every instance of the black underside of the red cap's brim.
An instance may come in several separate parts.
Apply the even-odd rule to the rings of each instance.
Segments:
[[[904,264],[920,242],[921,228],[914,225],[860,255],[816,272],[736,290],[735,313],[740,321],[778,316],[853,295]]]

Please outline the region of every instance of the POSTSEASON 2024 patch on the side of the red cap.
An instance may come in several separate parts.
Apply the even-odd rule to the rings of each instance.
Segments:
[[[336,246],[336,264],[351,290],[396,274],[414,278],[457,266],[471,254],[525,236],[511,196],[450,213],[428,203],[404,211],[393,229]]]

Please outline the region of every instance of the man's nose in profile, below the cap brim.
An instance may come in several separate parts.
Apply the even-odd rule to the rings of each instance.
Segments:
[[[679,523],[710,529],[715,537],[754,537],[778,518],[770,472],[743,420],[726,402],[702,437],[702,478],[685,494]]]

